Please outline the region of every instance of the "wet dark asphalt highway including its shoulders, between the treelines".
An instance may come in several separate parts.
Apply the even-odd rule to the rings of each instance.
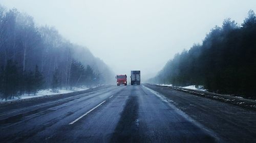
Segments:
[[[238,126],[226,123],[227,110],[221,107],[250,117],[239,117],[244,120]],[[0,142],[255,142],[256,113],[241,110],[149,84],[104,86],[84,94],[0,105]],[[229,132],[212,127],[222,124],[230,125]],[[247,138],[236,140],[233,135]]]

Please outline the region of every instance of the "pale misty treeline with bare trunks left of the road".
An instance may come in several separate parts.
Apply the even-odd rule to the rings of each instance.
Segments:
[[[70,43],[55,28],[39,27],[31,16],[1,6],[0,67],[2,99],[40,89],[90,87],[111,74],[87,48]]]

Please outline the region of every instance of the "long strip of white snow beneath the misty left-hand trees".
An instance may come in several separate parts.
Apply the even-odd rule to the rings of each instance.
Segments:
[[[73,88],[72,90],[57,90],[57,92],[53,92],[51,89],[40,90],[40,91],[37,92],[36,95],[34,95],[34,94],[30,94],[30,95],[29,94],[24,94],[24,95],[14,97],[14,99],[8,99],[7,101],[33,98],[33,97],[39,97],[39,96],[46,96],[46,95],[65,94],[65,93],[83,91],[83,90],[88,90],[88,89],[89,88],[81,87],[81,88]],[[0,99],[0,102],[4,102],[4,101],[5,101],[5,99]]]

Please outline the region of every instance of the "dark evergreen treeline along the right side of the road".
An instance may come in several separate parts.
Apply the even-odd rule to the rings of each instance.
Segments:
[[[250,10],[241,25],[228,18],[212,28],[201,45],[176,54],[150,81],[256,98],[255,55],[256,16]]]

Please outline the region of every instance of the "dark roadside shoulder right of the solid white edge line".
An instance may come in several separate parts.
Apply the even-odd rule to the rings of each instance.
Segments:
[[[196,96],[189,93],[189,90],[184,92],[159,85],[144,85],[167,97],[169,102],[205,127],[215,131],[225,141],[256,142],[256,112],[253,109]]]

